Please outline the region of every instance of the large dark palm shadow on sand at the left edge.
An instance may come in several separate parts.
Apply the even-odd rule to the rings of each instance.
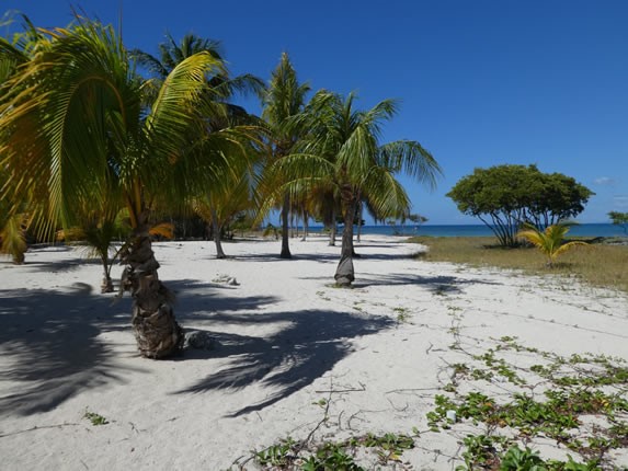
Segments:
[[[130,308],[111,303],[80,290],[0,290],[0,411],[46,412],[82,390],[123,382],[100,335],[129,330]]]

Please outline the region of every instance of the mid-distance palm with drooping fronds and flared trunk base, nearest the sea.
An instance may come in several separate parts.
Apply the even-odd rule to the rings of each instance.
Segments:
[[[341,286],[355,279],[353,223],[358,203],[368,200],[381,217],[397,215],[410,207],[397,173],[404,172],[429,186],[441,173],[432,154],[416,141],[379,143],[381,124],[397,113],[395,101],[385,100],[362,112],[354,108],[354,100],[353,93],[343,99],[318,92],[300,117],[310,130],[310,141],[302,153],[282,165],[293,177],[287,187],[300,188],[304,181],[313,186],[333,185],[340,197],[344,230],[335,279]]]

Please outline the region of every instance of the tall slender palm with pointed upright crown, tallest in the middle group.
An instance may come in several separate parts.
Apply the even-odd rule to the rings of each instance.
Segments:
[[[307,93],[310,87],[307,83],[299,83],[297,73],[286,53],[276,69],[273,71],[271,82],[262,94],[262,118],[266,127],[267,151],[266,170],[273,169],[277,162],[293,153],[298,141],[302,138],[304,128],[295,127],[293,118],[302,112]],[[272,177],[267,175],[272,174]],[[274,170],[266,173],[265,185],[273,194],[272,189],[285,183],[284,175]],[[290,195],[287,192],[277,197],[281,205],[282,219],[282,259],[290,259],[289,248],[289,210]]]

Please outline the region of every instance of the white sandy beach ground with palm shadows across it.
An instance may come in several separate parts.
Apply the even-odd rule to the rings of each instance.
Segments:
[[[292,239],[290,250],[284,261],[278,241],[226,243],[233,259],[218,261],[210,242],[155,244],[179,321],[219,343],[161,361],[137,355],[128,295],[113,306],[100,295],[95,262],[62,246],[28,251],[23,266],[2,259],[0,469],[255,469],[252,450],[287,436],[427,430],[450,365],[505,335],[560,355],[628,358],[623,295],[419,262],[407,256],[418,245],[382,237],[356,245],[354,289],[338,289],[339,246]],[[511,361],[538,363],[526,353]],[[512,390],[486,383],[493,395]],[[87,411],[110,423],[93,426]],[[454,469],[471,428],[424,432],[402,458],[416,470]],[[552,440],[536,445],[566,457]],[[628,463],[626,450],[616,455]],[[365,468],[376,463],[363,452]]]

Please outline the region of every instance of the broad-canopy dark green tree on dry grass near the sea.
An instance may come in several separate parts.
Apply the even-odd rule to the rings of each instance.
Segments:
[[[524,222],[538,230],[574,218],[594,193],[561,173],[543,173],[536,165],[504,164],[476,169],[446,196],[458,209],[479,218],[501,245],[517,245]]]

